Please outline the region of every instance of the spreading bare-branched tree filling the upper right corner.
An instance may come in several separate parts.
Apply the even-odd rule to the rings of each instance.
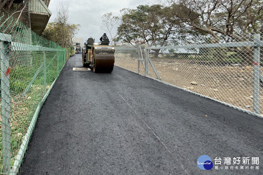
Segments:
[[[263,29],[262,0],[179,0],[172,6],[182,22],[216,40],[221,34],[240,41],[237,33],[245,36]]]

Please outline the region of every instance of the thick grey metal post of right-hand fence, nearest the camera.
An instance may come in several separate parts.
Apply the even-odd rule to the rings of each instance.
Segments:
[[[253,74],[253,106],[254,112],[260,114],[260,47],[257,46],[260,41],[260,35],[254,34],[254,74]]]

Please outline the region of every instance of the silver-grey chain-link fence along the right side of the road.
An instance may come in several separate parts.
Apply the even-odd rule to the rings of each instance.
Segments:
[[[188,35],[115,47],[115,65],[262,117],[262,35]]]

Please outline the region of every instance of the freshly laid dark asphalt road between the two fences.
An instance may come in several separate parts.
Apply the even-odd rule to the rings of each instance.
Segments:
[[[263,174],[262,119],[118,67],[73,67],[81,55],[51,90],[20,174]],[[223,168],[224,157],[250,157],[249,169],[201,170],[203,154]]]

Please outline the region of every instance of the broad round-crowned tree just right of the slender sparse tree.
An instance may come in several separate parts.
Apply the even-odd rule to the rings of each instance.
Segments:
[[[140,5],[137,9],[124,9],[118,40],[132,45],[149,44],[173,38],[180,29],[179,19],[171,7]]]

